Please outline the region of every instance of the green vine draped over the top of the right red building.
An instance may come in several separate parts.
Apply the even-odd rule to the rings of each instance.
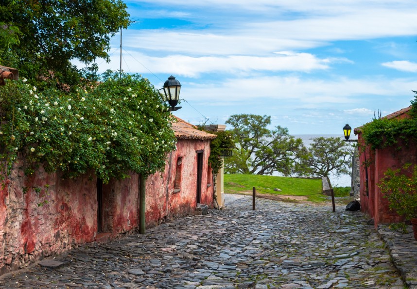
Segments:
[[[415,92],[417,93],[417,92]],[[408,141],[417,140],[417,94],[411,101],[411,118],[374,118],[361,127],[362,136],[365,144],[369,144],[372,149],[384,148],[398,144],[402,139],[405,144]]]

